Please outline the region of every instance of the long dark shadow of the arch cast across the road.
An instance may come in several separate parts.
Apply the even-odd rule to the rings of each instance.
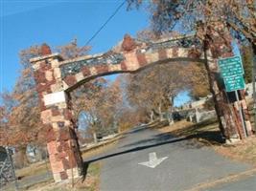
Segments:
[[[125,146],[122,146],[121,148],[127,148],[127,147],[133,147],[131,149],[127,149],[121,152],[116,152],[112,154],[106,154],[105,156],[98,157],[95,159],[88,159],[84,161],[84,179],[87,174],[87,168],[91,162],[102,160],[102,159],[109,159],[112,157],[128,154],[131,152],[137,152],[145,149],[149,149],[152,147],[157,147],[165,144],[177,144],[179,148],[184,148],[184,149],[199,149],[201,147],[207,146],[207,144],[202,143],[198,141],[197,139],[203,139],[207,140],[211,143],[217,143],[221,144],[224,143],[224,139],[221,137],[220,131],[208,131],[208,130],[200,130],[203,128],[206,124],[201,123],[198,124],[197,126],[191,126],[186,131],[191,131],[191,132],[196,132],[194,135],[189,135],[183,138],[176,138],[175,136],[171,135],[170,133],[161,133],[152,136],[151,138],[147,139],[142,139],[138,140],[132,143],[129,143]],[[126,133],[126,134],[133,134],[133,133],[138,133],[140,131],[148,129],[147,127],[139,127],[135,128],[134,130]],[[200,130],[200,131],[195,131],[195,130]],[[196,139],[195,139],[196,138]]]

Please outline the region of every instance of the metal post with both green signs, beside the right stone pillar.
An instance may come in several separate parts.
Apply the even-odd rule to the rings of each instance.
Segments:
[[[221,70],[221,75],[224,80],[225,90],[226,92],[235,92],[236,100],[239,102],[238,90],[244,90],[244,68],[242,65],[241,56],[233,56],[227,57],[218,60],[219,67]],[[244,117],[243,111],[239,102],[239,114],[241,117],[244,136],[247,137],[245,124],[244,124]]]

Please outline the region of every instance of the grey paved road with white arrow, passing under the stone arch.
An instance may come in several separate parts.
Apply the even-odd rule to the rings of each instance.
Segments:
[[[168,159],[155,168],[138,164],[149,160],[152,152]],[[140,127],[127,133],[113,150],[93,160],[99,159],[103,161],[103,191],[186,190],[251,168],[225,159],[197,141]]]

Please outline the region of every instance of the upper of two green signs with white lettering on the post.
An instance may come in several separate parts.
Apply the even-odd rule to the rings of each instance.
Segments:
[[[219,59],[218,63],[222,77],[244,74],[240,55]]]

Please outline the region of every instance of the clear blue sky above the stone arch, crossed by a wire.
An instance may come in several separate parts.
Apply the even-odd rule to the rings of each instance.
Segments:
[[[12,91],[19,75],[19,51],[43,42],[56,47],[74,38],[78,39],[79,45],[84,45],[123,1],[0,0],[0,2],[2,92]],[[136,32],[147,28],[149,23],[146,11],[127,11],[127,5],[123,6],[90,43],[91,53],[107,51],[122,40],[124,34],[129,33],[134,36]]]

